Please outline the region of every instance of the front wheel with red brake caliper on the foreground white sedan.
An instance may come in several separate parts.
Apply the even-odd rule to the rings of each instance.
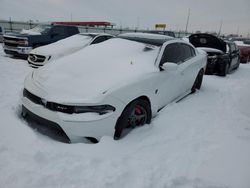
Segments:
[[[118,118],[115,126],[114,140],[124,135],[124,129],[132,129],[151,122],[152,113],[147,100],[136,99],[129,103]]]

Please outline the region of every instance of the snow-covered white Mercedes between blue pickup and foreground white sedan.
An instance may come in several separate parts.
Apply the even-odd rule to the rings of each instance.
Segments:
[[[81,33],[73,35],[32,50],[28,56],[28,63],[32,67],[40,67],[49,61],[69,55],[88,45],[97,44],[112,37],[112,35],[106,33]]]

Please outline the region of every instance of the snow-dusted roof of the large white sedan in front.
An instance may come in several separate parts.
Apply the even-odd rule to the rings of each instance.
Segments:
[[[170,36],[151,33],[124,33],[118,35],[118,37],[155,46],[162,46],[166,41],[174,39]]]

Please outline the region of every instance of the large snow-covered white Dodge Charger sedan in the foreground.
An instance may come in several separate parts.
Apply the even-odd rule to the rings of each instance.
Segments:
[[[60,130],[70,142],[119,139],[200,89],[206,61],[204,51],[179,39],[122,34],[28,75],[22,114]]]

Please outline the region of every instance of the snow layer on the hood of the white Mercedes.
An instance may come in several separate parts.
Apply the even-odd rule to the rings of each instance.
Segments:
[[[30,53],[44,56],[51,55],[53,58],[60,57],[84,48],[91,40],[92,37],[90,36],[77,34],[55,43],[35,48]]]

